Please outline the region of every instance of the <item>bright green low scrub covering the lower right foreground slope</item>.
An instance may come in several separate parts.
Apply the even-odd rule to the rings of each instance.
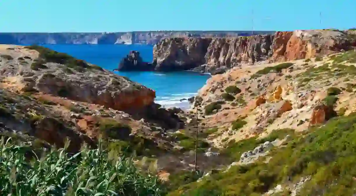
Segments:
[[[181,186],[168,195],[262,195],[278,184],[299,181],[311,176],[300,190],[300,196],[353,195],[356,189],[356,114],[336,117],[322,127],[311,127],[303,135],[293,135],[283,148],[273,149],[268,163],[232,166],[200,182]],[[237,145],[239,144],[240,145]],[[251,150],[257,144],[247,140],[230,147]],[[249,146],[250,145],[250,146]],[[249,148],[247,148],[249,146]],[[289,195],[286,193],[284,195]]]

